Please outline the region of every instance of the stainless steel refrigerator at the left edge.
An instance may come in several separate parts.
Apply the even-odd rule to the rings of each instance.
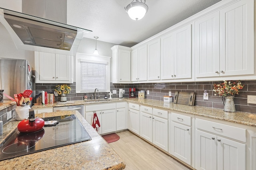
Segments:
[[[27,60],[0,58],[0,90],[14,98],[14,94],[33,90],[32,88],[31,70]],[[4,96],[4,100],[7,99]]]

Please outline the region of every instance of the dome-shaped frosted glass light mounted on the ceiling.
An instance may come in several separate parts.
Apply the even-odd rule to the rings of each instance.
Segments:
[[[132,2],[128,6],[124,7],[124,9],[132,20],[140,20],[148,12],[148,6],[145,4],[146,0],[144,0],[144,2],[142,2],[142,0],[140,0],[140,2],[139,0],[135,1],[136,2],[132,0]]]

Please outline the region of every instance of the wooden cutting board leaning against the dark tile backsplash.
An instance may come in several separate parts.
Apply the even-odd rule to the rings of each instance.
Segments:
[[[195,92],[175,92],[174,103],[194,106]]]

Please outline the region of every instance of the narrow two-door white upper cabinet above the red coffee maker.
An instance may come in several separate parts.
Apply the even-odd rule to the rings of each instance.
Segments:
[[[131,80],[146,81],[147,80],[147,45],[143,45],[131,52]]]

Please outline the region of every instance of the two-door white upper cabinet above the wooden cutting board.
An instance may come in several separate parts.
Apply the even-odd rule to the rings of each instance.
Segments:
[[[192,77],[191,24],[161,37],[161,79]]]

